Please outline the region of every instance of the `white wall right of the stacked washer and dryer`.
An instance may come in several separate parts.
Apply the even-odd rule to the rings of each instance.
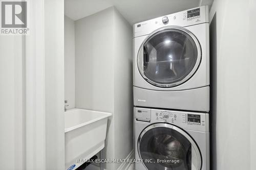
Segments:
[[[210,9],[212,169],[255,169],[256,71],[249,42],[255,19],[250,2],[215,0]]]

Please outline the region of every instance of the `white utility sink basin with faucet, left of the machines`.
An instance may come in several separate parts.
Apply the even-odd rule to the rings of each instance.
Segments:
[[[104,148],[108,117],[112,113],[72,109],[65,112],[65,167],[76,169]]]

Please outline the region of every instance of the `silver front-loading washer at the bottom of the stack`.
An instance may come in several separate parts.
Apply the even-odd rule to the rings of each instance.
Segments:
[[[209,170],[208,113],[135,107],[134,117],[136,170]]]

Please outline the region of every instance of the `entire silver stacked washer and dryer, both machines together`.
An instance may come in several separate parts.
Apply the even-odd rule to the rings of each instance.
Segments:
[[[135,169],[208,170],[208,7],[137,23],[133,42]]]

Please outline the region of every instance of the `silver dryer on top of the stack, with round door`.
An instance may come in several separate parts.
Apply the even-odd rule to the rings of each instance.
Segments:
[[[134,25],[134,105],[209,111],[208,6]]]

